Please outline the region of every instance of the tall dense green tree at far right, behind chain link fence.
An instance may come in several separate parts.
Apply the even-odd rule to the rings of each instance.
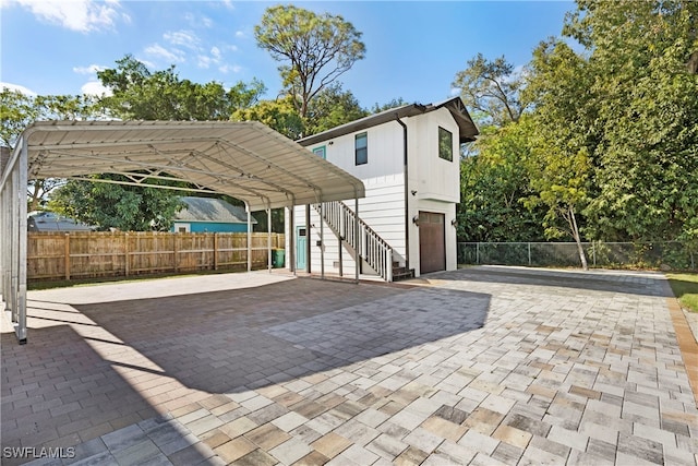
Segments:
[[[585,213],[604,240],[698,238],[698,3],[580,0],[564,34],[586,47],[598,194]]]

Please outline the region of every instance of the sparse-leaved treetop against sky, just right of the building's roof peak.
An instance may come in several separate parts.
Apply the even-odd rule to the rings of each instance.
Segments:
[[[481,121],[485,124],[503,127],[516,122],[527,107],[520,95],[521,73],[504,56],[491,61],[478,53],[456,74],[452,85],[460,88],[466,106],[483,117]]]

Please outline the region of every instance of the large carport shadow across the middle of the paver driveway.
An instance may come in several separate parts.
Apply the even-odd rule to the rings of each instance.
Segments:
[[[284,383],[484,324],[490,297],[296,279],[76,309],[191,389]]]

